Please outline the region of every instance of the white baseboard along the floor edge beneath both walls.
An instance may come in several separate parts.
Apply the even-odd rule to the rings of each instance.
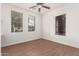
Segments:
[[[64,42],[63,39],[61,41],[60,39],[55,40],[55,38],[52,39],[51,37],[42,37],[42,38],[46,39],[46,40],[49,40],[49,41],[54,41],[54,42],[57,42],[57,43],[60,43],[60,44],[68,45],[68,46],[71,46],[71,47],[79,48],[79,45],[77,45],[76,43],[71,44],[71,43],[69,43],[67,41]],[[28,42],[28,41],[32,41],[32,40],[37,40],[37,39],[40,39],[40,38],[31,38],[31,39],[28,39],[28,40],[25,39],[25,41],[13,42],[13,43],[9,43],[9,44],[3,45],[1,47],[6,47],[6,46],[19,44],[19,43],[24,43],[24,42]],[[65,40],[67,40],[67,39],[65,39]]]

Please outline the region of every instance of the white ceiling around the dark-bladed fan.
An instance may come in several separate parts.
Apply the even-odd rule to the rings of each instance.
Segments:
[[[45,9],[45,8],[41,8],[41,12],[38,12],[37,8],[29,9],[29,7],[36,5],[36,3],[11,3],[11,4],[15,5],[17,7],[23,8],[23,9],[30,10],[30,11],[35,12],[35,13],[40,13],[40,14],[47,12],[47,11],[50,11],[50,10],[53,10],[53,9],[56,9],[59,6],[63,5],[63,3],[45,3],[44,5],[49,6],[50,9],[48,10],[48,9]]]

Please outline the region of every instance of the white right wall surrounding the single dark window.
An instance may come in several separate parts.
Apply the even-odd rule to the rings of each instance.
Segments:
[[[55,35],[55,16],[61,14],[66,14],[66,36]],[[79,48],[79,4],[65,4],[43,14],[43,38]]]

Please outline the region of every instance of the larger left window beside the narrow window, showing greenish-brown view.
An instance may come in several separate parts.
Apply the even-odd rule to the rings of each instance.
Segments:
[[[23,14],[11,11],[11,32],[23,32]]]

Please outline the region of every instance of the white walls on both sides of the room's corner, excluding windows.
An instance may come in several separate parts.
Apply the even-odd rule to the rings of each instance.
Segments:
[[[11,10],[23,13],[23,32],[11,33]],[[66,14],[66,36],[55,35],[55,16],[61,14]],[[28,15],[36,16],[35,32],[28,32]],[[43,15],[8,4],[2,4],[1,26],[2,47],[45,38],[79,48],[79,4],[65,4]]]

